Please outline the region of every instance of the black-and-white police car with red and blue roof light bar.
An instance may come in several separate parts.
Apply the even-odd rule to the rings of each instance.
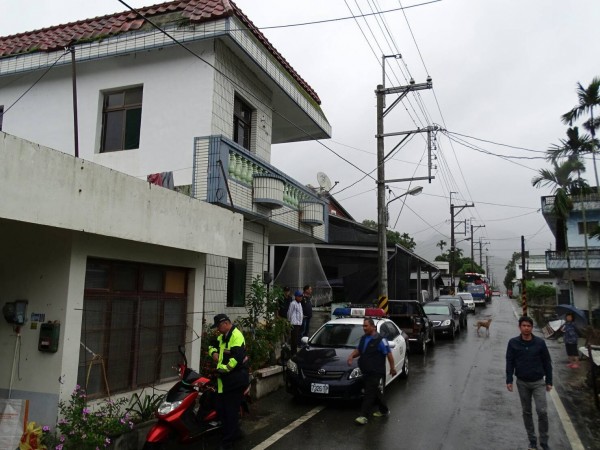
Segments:
[[[377,332],[387,339],[394,356],[396,375],[390,375],[386,358],[385,384],[408,376],[408,349],[405,336],[398,326],[385,318],[378,308],[337,308],[336,319],[325,323],[310,339],[303,338],[304,347],[286,365],[286,390],[294,396],[354,399],[363,395],[363,379],[358,358],[348,365],[348,356],[364,335],[363,321],[370,317]]]

